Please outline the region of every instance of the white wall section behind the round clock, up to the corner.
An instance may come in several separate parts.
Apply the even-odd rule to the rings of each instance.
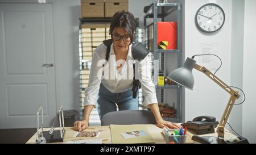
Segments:
[[[212,45],[212,54],[218,55],[222,59],[222,67],[217,72],[222,81],[230,85],[230,55],[231,55],[231,19],[232,1],[217,1],[217,4],[225,11],[226,20],[220,31],[210,35],[200,32],[196,28],[196,11],[205,3],[210,1],[195,0],[185,1],[185,58],[196,54],[202,54],[201,48],[204,45]],[[213,61],[203,63],[203,57],[195,57],[197,64],[205,66],[211,72],[220,65],[217,58]],[[222,113],[229,99],[229,94],[222,90],[203,73],[193,70],[195,85],[193,91],[185,89],[185,121],[192,120],[199,115],[215,116],[221,119]]]

